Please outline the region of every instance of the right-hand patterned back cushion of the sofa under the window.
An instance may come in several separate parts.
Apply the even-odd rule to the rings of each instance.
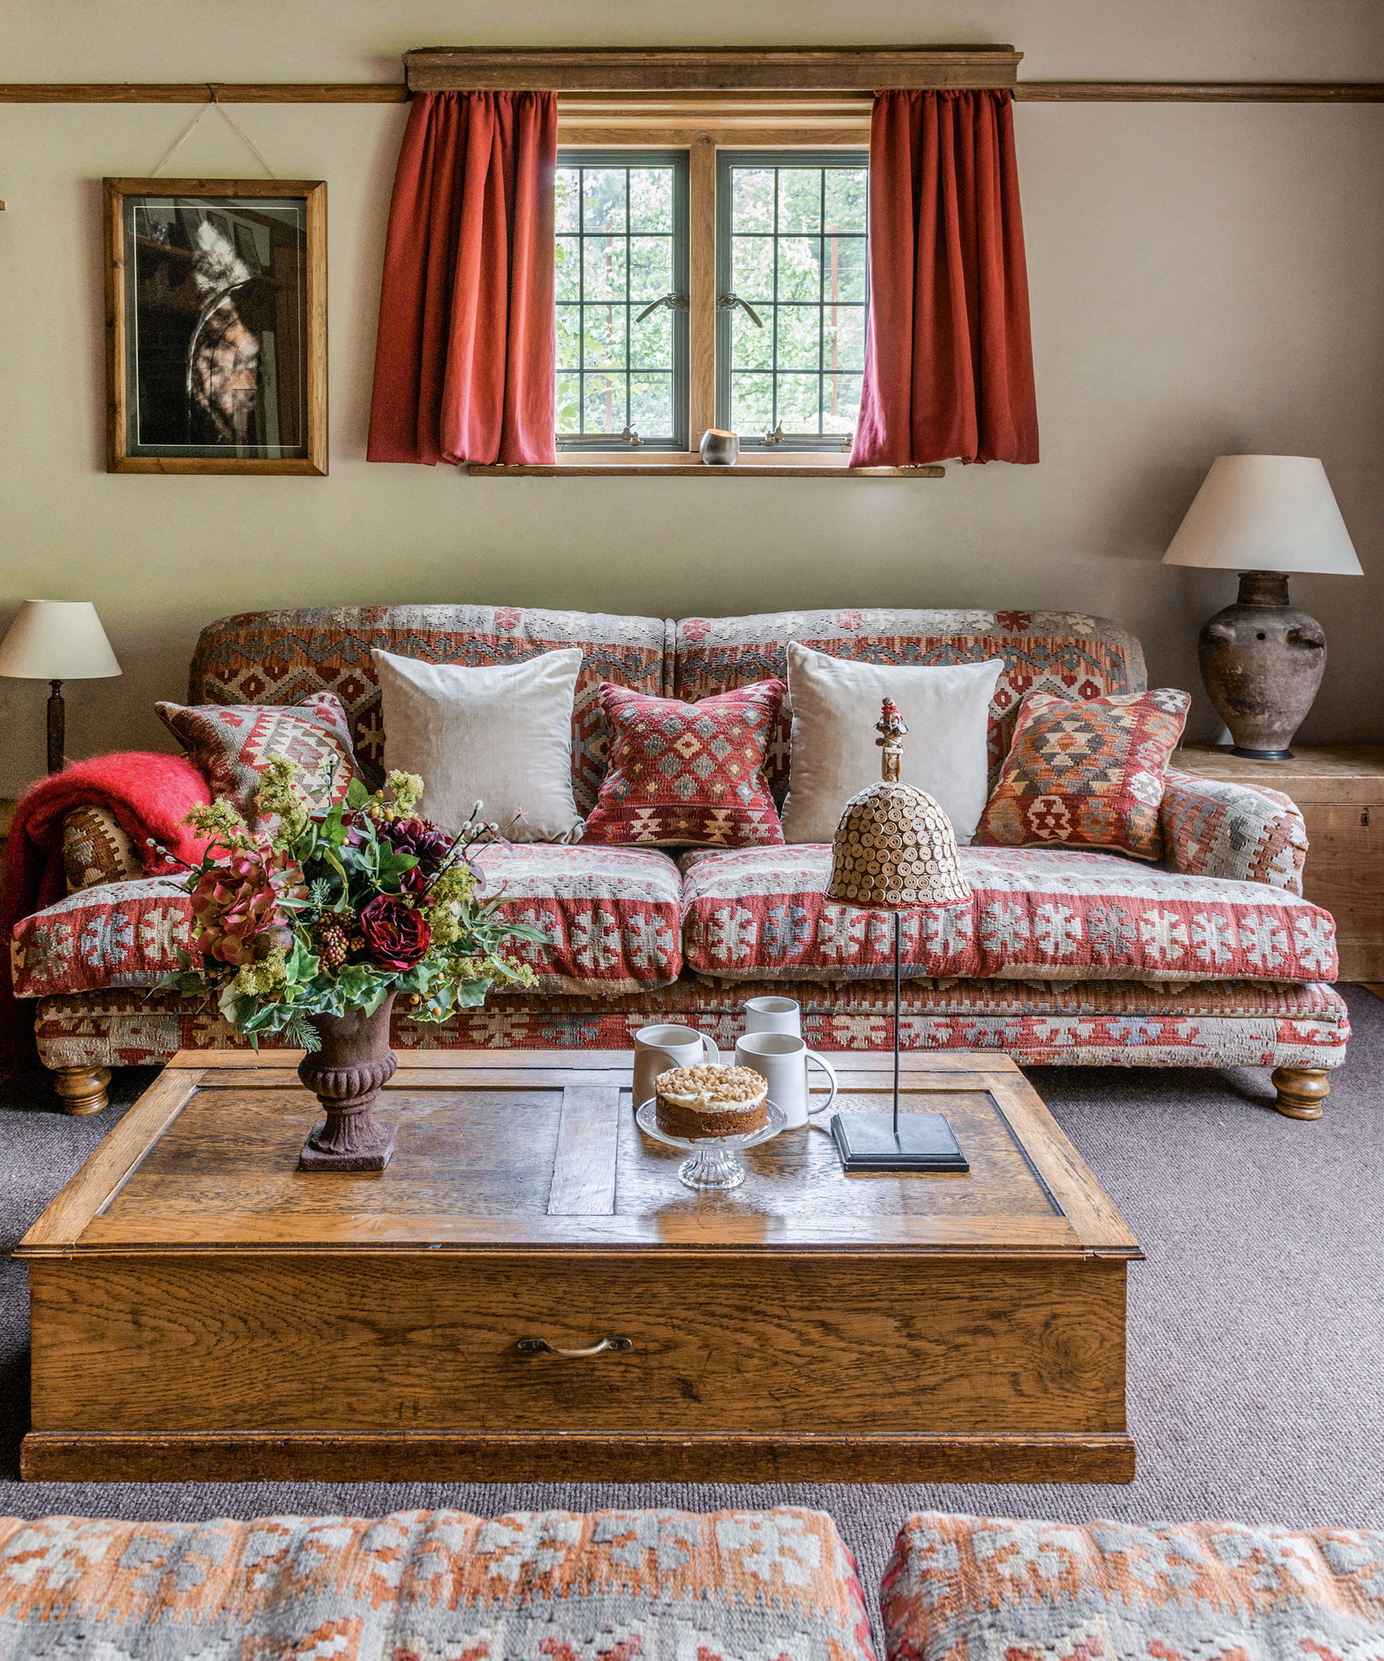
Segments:
[[[683,618],[676,626],[673,698],[688,703],[788,673],[788,643],[857,663],[942,664],[1002,658],[990,701],[989,782],[994,789],[1025,693],[1068,698],[1141,693],[1143,648],[1128,630],[1083,611],[766,611]],[[788,791],[791,713],[769,746],[769,787]]]

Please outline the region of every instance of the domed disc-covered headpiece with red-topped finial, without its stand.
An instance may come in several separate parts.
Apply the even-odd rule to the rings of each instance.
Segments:
[[[969,900],[952,822],[937,802],[899,782],[907,728],[891,698],[876,723],[881,782],[852,796],[836,827],[827,899],[872,910]]]

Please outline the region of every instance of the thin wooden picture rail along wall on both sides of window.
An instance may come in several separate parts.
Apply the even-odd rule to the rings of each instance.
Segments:
[[[213,86],[214,81],[10,81],[0,83],[0,103],[196,105],[211,103]],[[1012,91],[1015,103],[1384,103],[1384,81],[1015,81]],[[412,95],[402,81],[228,81],[216,86],[216,96],[221,103],[286,105],[407,103]],[[842,90],[844,100],[859,96]]]

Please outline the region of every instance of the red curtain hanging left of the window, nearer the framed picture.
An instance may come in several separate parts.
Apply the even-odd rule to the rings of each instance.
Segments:
[[[372,462],[553,462],[555,93],[420,93],[384,251]]]

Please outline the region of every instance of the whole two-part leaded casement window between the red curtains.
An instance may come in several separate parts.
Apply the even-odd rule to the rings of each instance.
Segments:
[[[691,219],[688,164],[688,149],[558,149],[558,448],[686,452],[716,425],[743,450],[849,452],[869,151],[719,149],[714,213],[708,174]],[[714,309],[690,307],[693,266]]]

